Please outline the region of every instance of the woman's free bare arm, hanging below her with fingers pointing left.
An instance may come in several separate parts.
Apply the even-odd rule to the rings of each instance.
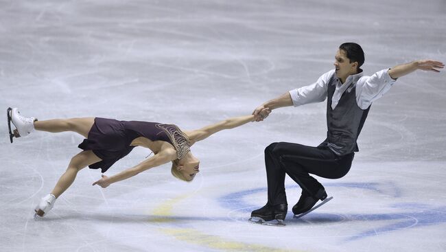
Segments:
[[[134,167],[124,170],[122,172],[119,172],[118,174],[115,174],[113,176],[105,176],[104,174],[102,174],[102,179],[99,179],[98,181],[93,183],[93,185],[99,185],[105,188],[108,187],[108,185],[110,185],[111,183],[128,179],[136,174],[139,174],[140,172],[143,172],[150,168],[154,168],[159,165],[163,165],[174,159],[176,159],[175,150],[171,149],[162,150],[161,152],[155,154],[153,157],[150,157],[150,159],[145,159],[138,165],[135,165]]]

